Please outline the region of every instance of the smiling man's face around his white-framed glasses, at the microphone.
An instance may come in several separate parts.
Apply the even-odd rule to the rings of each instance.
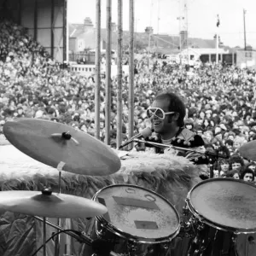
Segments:
[[[154,101],[152,104],[152,108],[161,108],[164,112],[170,112],[168,109],[169,101],[162,100],[162,101]],[[165,119],[159,119],[154,115],[152,119],[154,131],[157,133],[165,133],[170,131],[173,127],[172,118],[169,114],[166,114]]]

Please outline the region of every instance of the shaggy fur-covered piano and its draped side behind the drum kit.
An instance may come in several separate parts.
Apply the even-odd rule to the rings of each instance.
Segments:
[[[9,145],[3,138],[0,146],[0,189],[35,190],[50,186],[58,190],[59,172],[37,160],[33,160]],[[93,177],[61,173],[61,193],[92,198],[100,189],[112,184],[134,184],[150,189],[164,196],[177,209],[183,220],[185,198],[195,184],[200,183],[199,169],[189,160],[177,156],[132,153],[121,161],[119,172],[105,177]],[[0,210],[1,211],[1,210]],[[42,245],[42,223],[36,218],[19,212],[4,212],[0,217],[0,255],[27,256]],[[56,223],[55,218],[49,218]],[[61,219],[61,226],[73,230],[87,230],[88,219]],[[56,230],[47,226],[47,237]],[[240,255],[255,255],[255,245],[247,241],[251,235],[239,235],[237,248]],[[254,235],[253,235],[254,236]],[[186,255],[189,239],[174,239],[176,252],[172,255]],[[54,256],[54,241],[49,241],[47,255]],[[73,238],[61,235],[61,255],[64,253],[84,256],[83,244]],[[43,255],[43,251],[37,254]]]

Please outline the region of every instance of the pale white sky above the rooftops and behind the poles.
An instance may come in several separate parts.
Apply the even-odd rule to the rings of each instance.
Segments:
[[[102,0],[102,28],[106,27],[106,1]],[[182,2],[180,2],[182,1]],[[117,2],[112,0],[112,21],[117,23]],[[129,30],[129,0],[123,0],[123,29]],[[212,39],[217,32],[217,15],[220,26],[218,34],[224,45],[244,47],[244,19],[246,10],[247,44],[256,48],[256,1],[255,0],[134,0],[135,32],[144,32],[153,26],[154,33],[177,35],[177,17],[185,16],[180,6],[187,2],[189,38]],[[90,17],[95,25],[95,0],[68,0],[67,20],[83,23]],[[159,17],[159,21],[158,21]]]

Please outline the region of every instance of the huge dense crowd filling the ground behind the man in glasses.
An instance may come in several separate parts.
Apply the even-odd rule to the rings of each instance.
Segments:
[[[0,22],[0,125],[16,117],[49,119],[95,134],[95,80],[61,68],[43,46],[12,21]],[[154,97],[172,90],[186,104],[185,125],[206,147],[229,154],[216,177],[241,177],[255,163],[238,149],[256,138],[256,73],[224,64],[189,67],[157,56],[135,58],[134,133],[150,125],[146,110]],[[123,76],[123,138],[128,134],[128,77]],[[105,75],[101,80],[101,139],[105,124]],[[117,79],[112,79],[111,145],[116,145]]]

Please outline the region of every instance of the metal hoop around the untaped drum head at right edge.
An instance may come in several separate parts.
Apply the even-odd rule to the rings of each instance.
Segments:
[[[195,215],[195,218],[198,218],[202,223],[208,224],[208,225],[212,226],[213,228],[215,228],[217,230],[231,231],[231,232],[236,233],[236,234],[251,234],[251,233],[255,233],[256,228],[254,228],[254,229],[232,228],[232,227],[229,227],[229,226],[225,226],[223,224],[215,223],[215,222],[207,219],[205,216],[203,216],[200,212],[198,212],[195,209],[195,207],[194,207],[194,205],[193,205],[193,203],[191,201],[192,192],[197,187],[200,187],[202,184],[210,183],[210,182],[214,182],[214,181],[225,181],[225,182],[226,181],[230,181],[230,182],[237,182],[237,183],[245,183],[247,185],[255,187],[255,185],[253,185],[252,183],[247,183],[245,181],[242,181],[242,180],[239,180],[239,179],[235,179],[235,178],[227,179],[226,177],[216,177],[214,179],[204,180],[201,183],[197,183],[192,189],[189,190],[189,193],[188,193],[187,198],[186,198],[186,203],[187,203],[187,206],[189,207],[189,211],[192,212],[192,214]]]

